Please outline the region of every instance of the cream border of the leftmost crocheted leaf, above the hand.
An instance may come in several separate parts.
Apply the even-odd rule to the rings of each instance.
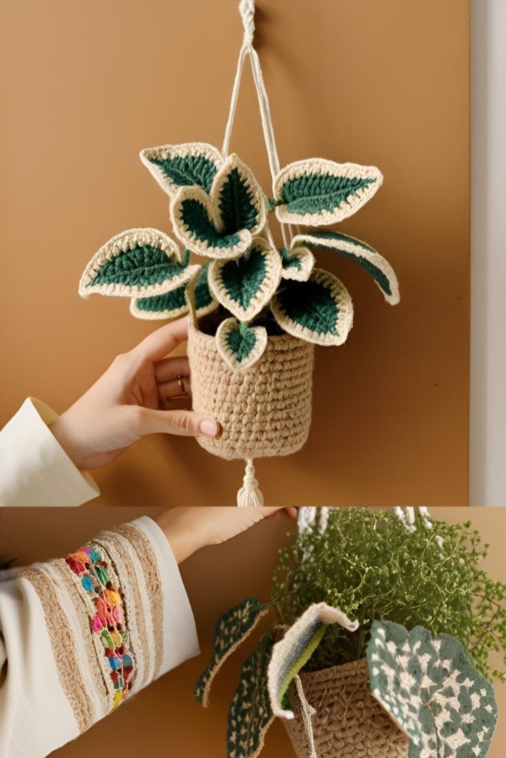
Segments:
[[[187,266],[171,279],[166,279],[163,282],[157,284],[145,284],[142,287],[137,285],[129,285],[122,283],[102,283],[91,284],[98,274],[99,269],[105,265],[106,262],[116,258],[121,253],[133,250],[135,247],[150,245],[156,247],[159,250],[165,252],[169,259],[181,264],[183,262],[183,256],[179,246],[171,240],[171,238],[159,231],[158,229],[128,229],[127,231],[116,234],[111,240],[102,245],[98,252],[93,255],[88,265],[83,271],[83,275],[80,278],[79,294],[81,297],[87,299],[88,296],[93,294],[118,296],[118,297],[151,297],[156,295],[164,295],[170,290],[177,290],[182,284],[187,283],[193,277],[200,266],[192,265]]]

